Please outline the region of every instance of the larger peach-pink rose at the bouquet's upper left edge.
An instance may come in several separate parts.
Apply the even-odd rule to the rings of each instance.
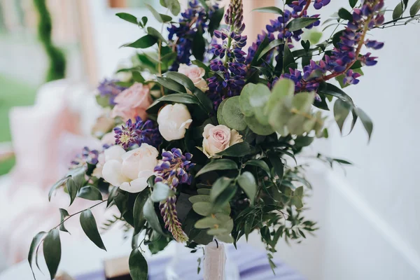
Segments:
[[[118,94],[115,102],[116,106],[114,106],[111,113],[113,118],[118,116],[124,120],[129,120],[130,118],[134,120],[136,116],[139,116],[144,120],[147,118],[146,109],[152,104],[152,97],[147,85],[135,83]]]

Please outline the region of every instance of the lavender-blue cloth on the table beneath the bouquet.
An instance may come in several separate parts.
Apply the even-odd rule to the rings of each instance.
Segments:
[[[274,261],[276,263],[276,269],[273,274],[269,262],[267,260],[267,254],[263,251],[258,251],[250,246],[239,246],[236,250],[234,247],[228,247],[228,258],[234,262],[240,274],[241,280],[306,280],[303,276],[295,272],[287,265],[282,262]],[[170,258],[160,258],[148,260],[149,265],[149,280],[165,280],[165,267],[168,264]],[[202,280],[197,275],[197,260],[192,258],[190,265],[186,270],[184,279],[188,280]],[[104,272],[92,272],[76,277],[76,280],[104,280]]]

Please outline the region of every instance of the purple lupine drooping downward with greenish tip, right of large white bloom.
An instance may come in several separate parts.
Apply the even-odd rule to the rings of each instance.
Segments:
[[[164,151],[162,153],[162,162],[155,167],[157,174],[155,183],[165,183],[174,193],[180,183],[190,184],[192,177],[189,172],[195,166],[191,162],[191,158],[193,158],[193,155],[190,153],[183,155],[179,148]],[[181,222],[176,213],[176,195],[160,202],[160,214],[165,222],[165,227],[172,233],[176,241],[188,241],[188,236],[183,232]]]

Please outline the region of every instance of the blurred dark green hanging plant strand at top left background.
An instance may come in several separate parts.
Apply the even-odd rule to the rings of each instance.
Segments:
[[[66,73],[66,57],[62,50],[57,48],[51,40],[52,23],[45,0],[34,0],[35,8],[38,12],[38,36],[47,52],[50,66],[48,67],[47,82],[64,78]]]

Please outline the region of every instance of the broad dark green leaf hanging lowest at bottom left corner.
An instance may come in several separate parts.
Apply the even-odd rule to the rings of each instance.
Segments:
[[[50,278],[54,279],[55,274],[57,274],[59,261],[61,260],[61,241],[57,228],[50,230],[45,237],[43,241],[43,255],[48,267],[48,272],[50,272]]]

